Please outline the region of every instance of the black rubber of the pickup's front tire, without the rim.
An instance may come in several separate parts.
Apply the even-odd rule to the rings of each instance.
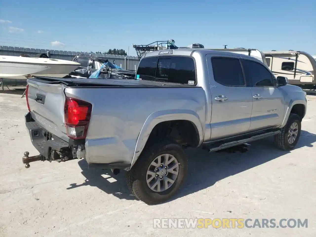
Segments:
[[[294,143],[289,144],[288,133],[289,133],[290,126],[294,122],[296,122],[298,125],[298,134],[297,134],[297,137],[296,137]],[[292,150],[296,146],[296,144],[298,143],[300,135],[301,135],[301,119],[297,114],[291,113],[289,116],[288,122],[281,129],[281,133],[274,136],[274,143],[276,144],[276,147],[281,149],[281,150]]]

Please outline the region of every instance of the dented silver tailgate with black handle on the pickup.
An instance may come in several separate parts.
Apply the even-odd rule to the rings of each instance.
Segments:
[[[27,80],[27,99],[32,118],[44,129],[68,141],[64,125],[65,85]]]

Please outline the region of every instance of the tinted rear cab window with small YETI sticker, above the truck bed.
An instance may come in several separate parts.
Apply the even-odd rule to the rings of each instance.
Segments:
[[[136,79],[196,85],[195,62],[186,56],[154,56],[143,58]]]

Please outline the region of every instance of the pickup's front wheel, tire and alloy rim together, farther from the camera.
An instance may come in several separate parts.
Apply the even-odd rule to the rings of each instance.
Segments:
[[[274,143],[281,150],[293,149],[301,135],[301,119],[291,113],[286,125],[281,129],[281,133],[274,136]]]

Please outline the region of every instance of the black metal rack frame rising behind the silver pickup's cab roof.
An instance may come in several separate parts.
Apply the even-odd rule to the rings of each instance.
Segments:
[[[133,47],[137,52],[137,56],[139,59],[143,57],[146,52],[150,51],[158,51],[162,49],[178,49],[177,46],[174,45],[174,40],[165,40],[165,41],[155,41],[148,45],[134,45]]]

